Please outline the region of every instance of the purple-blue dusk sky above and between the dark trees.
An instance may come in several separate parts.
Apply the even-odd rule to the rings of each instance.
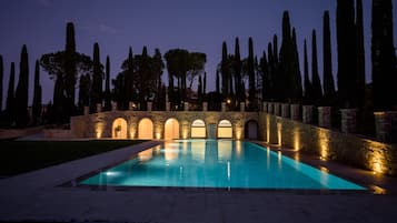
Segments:
[[[366,77],[370,81],[370,0],[364,0]],[[394,31],[397,42],[396,4]],[[221,43],[235,51],[235,38],[240,39],[241,57],[248,54],[248,38],[252,37],[258,58],[267,50],[276,33],[281,37],[282,11],[289,10],[291,26],[298,36],[302,71],[304,39],[311,57],[311,30],[317,30],[319,73],[322,77],[322,13],[330,11],[333,63],[336,81],[336,0],[0,0],[0,54],[4,61],[3,103],[6,103],[10,63],[16,62],[16,85],[22,44],[27,44],[32,95],[34,60],[43,53],[63,50],[66,23],[76,29],[77,50],[92,57],[93,43],[100,45],[101,62],[110,55],[111,77],[120,71],[128,55],[141,53],[147,45],[150,54],[159,48],[165,54],[175,48],[207,54],[207,91],[215,90],[216,65],[221,59]],[[279,41],[280,42],[280,41]],[[309,58],[311,63],[311,58]],[[165,74],[167,71],[165,70]],[[311,75],[311,74],[310,74]],[[166,79],[165,79],[166,80]],[[41,71],[43,103],[52,99],[53,81]],[[29,104],[31,104],[31,99]]]

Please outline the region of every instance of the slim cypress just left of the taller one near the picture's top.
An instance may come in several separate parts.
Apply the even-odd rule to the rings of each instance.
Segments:
[[[318,107],[321,105],[322,89],[321,89],[320,77],[318,74],[316,30],[312,30],[312,38],[311,38],[311,81],[312,81],[312,101],[314,104]]]

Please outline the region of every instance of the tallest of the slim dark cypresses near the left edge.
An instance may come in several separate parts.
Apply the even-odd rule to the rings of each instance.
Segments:
[[[29,61],[27,45],[23,44],[21,61],[19,63],[19,80],[16,91],[17,126],[26,126],[29,121],[28,114],[28,88],[29,88]]]

